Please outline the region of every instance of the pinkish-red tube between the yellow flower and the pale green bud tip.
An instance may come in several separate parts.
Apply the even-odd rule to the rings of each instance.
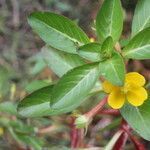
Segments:
[[[94,108],[92,108],[89,112],[87,112],[85,115],[88,118],[93,118],[98,112],[102,110],[104,105],[107,103],[107,97],[102,99]]]

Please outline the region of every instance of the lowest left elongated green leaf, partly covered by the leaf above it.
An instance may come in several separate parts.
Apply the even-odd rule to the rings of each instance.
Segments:
[[[101,84],[99,87],[94,87],[88,96],[92,95],[98,90],[101,90]],[[58,110],[50,108],[50,97],[52,93],[52,86],[39,89],[32,94],[25,97],[18,105],[18,112],[23,117],[42,117],[51,115],[60,115],[66,112],[70,112],[80,105],[80,103],[73,103],[68,107],[64,107]],[[86,100],[83,98],[81,102]]]

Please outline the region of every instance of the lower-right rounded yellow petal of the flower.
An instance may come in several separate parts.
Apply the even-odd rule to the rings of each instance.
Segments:
[[[147,91],[143,87],[135,88],[127,93],[127,100],[134,106],[140,106],[148,98]]]

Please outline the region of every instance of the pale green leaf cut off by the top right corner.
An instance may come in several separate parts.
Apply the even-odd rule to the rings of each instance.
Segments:
[[[150,1],[138,0],[132,22],[132,36],[150,27]]]

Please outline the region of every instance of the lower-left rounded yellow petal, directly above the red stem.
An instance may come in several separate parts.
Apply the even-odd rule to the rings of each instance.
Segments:
[[[108,96],[108,104],[114,108],[119,109],[123,106],[125,102],[125,95],[119,90],[113,91]]]

